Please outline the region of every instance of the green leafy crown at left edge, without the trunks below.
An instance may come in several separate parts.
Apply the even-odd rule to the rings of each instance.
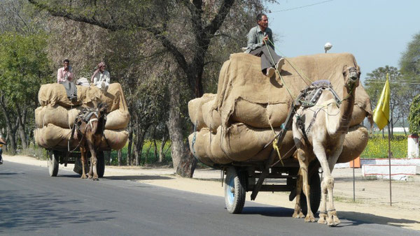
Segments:
[[[0,35],[0,90],[9,105],[36,101],[51,70],[45,52],[45,35]]]

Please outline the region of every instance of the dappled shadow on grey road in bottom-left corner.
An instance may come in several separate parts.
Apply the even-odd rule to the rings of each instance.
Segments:
[[[68,223],[89,223],[114,219],[116,211],[77,209],[80,200],[64,200],[57,193],[31,193],[0,191],[0,233],[10,230],[34,231],[59,228]]]

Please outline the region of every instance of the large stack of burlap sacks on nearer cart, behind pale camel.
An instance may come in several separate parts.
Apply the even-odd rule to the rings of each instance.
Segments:
[[[266,160],[272,145],[263,147],[274,138],[270,124],[278,133],[293,98],[310,84],[309,80],[329,80],[342,98],[343,68],[356,65],[353,55],[348,53],[288,58],[281,72],[283,84],[279,75],[269,79],[261,73],[259,57],[232,54],[221,68],[217,94],[204,94],[188,103],[190,119],[197,130],[188,137],[191,152],[211,166]],[[360,123],[369,115],[372,115],[370,98],[360,82],[338,163],[353,160],[365,149],[368,133]],[[282,158],[293,156],[294,145],[292,132],[288,131],[280,146]]]

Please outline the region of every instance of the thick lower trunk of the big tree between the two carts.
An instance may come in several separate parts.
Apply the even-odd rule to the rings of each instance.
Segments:
[[[182,121],[179,105],[179,89],[176,84],[169,86],[169,120],[167,126],[172,141],[172,163],[174,172],[183,177],[193,177],[195,158],[190,155],[183,142]]]

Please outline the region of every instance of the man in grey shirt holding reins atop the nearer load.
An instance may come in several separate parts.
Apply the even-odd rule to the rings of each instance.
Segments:
[[[264,13],[257,15],[257,26],[248,33],[248,47],[246,52],[261,57],[261,71],[268,78],[284,64],[284,58],[274,52],[273,32],[268,27],[268,18]],[[268,47],[267,47],[268,46]]]

